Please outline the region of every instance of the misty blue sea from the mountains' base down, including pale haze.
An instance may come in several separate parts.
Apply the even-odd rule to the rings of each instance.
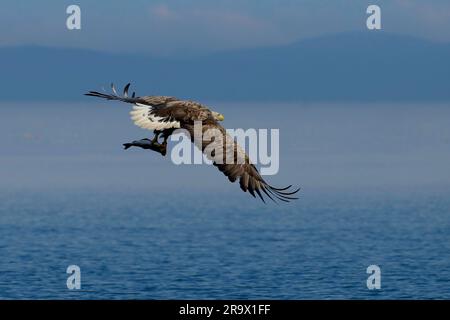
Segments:
[[[207,104],[228,128],[280,129],[266,178],[300,200],[122,150],[152,136],[126,105],[1,103],[0,298],[450,297],[448,106]]]

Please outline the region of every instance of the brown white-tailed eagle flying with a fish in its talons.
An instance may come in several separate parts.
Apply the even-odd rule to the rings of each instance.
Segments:
[[[254,198],[258,196],[264,203],[265,197],[268,197],[274,202],[277,202],[277,200],[289,202],[298,199],[296,193],[300,188],[293,190],[291,189],[292,185],[284,188],[275,188],[262,178],[245,151],[228,135],[226,129],[219,124],[219,121],[224,120],[222,114],[191,100],[180,100],[170,96],[139,97],[136,96],[135,92],[129,96],[129,88],[130,83],[124,87],[122,95],[117,93],[114,84],[111,84],[111,94],[97,91],[85,93],[86,96],[131,104],[133,110],[130,112],[130,115],[134,123],[143,129],[153,131],[154,136],[152,139],[145,138],[124,143],[123,146],[125,149],[140,147],[156,151],[165,156],[167,153],[167,139],[176,129],[187,130],[190,134],[191,141],[195,144],[194,122],[200,121],[202,124],[202,133],[210,129],[219,130],[220,134],[223,135],[222,141],[227,141],[223,143],[223,153],[219,155],[220,157],[231,154],[234,160],[243,159],[243,161],[233,161],[233,163],[213,161],[213,165],[228,177],[231,182],[239,180],[240,188],[244,192],[248,191]],[[159,142],[160,136],[163,139],[161,143]],[[196,146],[205,153],[205,148],[211,143],[211,138],[208,139],[205,135],[202,135],[201,140],[197,142]]]

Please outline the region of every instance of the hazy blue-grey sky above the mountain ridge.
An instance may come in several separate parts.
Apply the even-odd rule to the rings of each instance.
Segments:
[[[81,8],[81,30],[66,28],[71,4]],[[365,30],[371,4],[381,7],[385,31],[450,41],[448,0],[2,0],[0,46],[176,56],[282,45]]]

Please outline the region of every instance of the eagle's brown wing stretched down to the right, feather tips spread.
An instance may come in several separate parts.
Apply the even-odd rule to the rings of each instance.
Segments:
[[[182,128],[189,132],[192,142],[196,144],[194,141],[194,125],[186,124],[183,125]],[[262,178],[255,165],[251,163],[245,151],[226,132],[225,128],[217,122],[202,125],[203,138],[201,146],[196,144],[198,148],[201,148],[202,152],[205,152],[205,149],[210,148],[211,143],[214,143],[214,139],[211,139],[207,134],[205,134],[208,130],[217,130],[221,133],[222,139],[219,139],[221,140],[219,143],[223,148],[216,148],[215,152],[213,152],[213,157],[211,157],[208,152],[205,154],[210,160],[213,161],[214,166],[216,166],[225,176],[228,177],[228,180],[231,182],[239,180],[239,185],[244,192],[248,191],[253,197],[258,195],[263,202],[265,202],[264,196],[267,196],[272,201],[280,200],[289,202],[290,200],[298,199],[295,197],[295,194],[300,190],[300,188],[290,190],[292,185],[285,188],[275,188],[269,185]],[[218,152],[218,154],[216,154],[216,152]],[[230,161],[227,161],[227,157],[228,159],[232,158],[233,163],[228,163]],[[217,159],[222,161],[217,161]]]

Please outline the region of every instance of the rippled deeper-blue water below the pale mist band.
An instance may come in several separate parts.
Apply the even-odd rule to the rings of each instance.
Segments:
[[[265,207],[213,194],[0,200],[1,298],[450,298],[444,195],[304,195]],[[66,287],[71,264],[80,291]],[[371,264],[381,290],[366,287]]]

